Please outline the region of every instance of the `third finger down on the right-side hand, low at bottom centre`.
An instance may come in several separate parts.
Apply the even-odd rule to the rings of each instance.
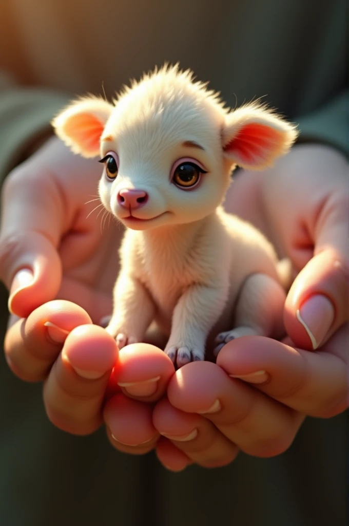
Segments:
[[[209,420],[173,407],[166,398],[156,404],[153,423],[163,437],[202,467],[227,466],[238,454],[235,444]]]

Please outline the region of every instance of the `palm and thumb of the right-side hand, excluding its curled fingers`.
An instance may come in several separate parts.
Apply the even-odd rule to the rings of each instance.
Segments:
[[[300,144],[264,173],[242,171],[228,191],[227,210],[292,262],[284,321],[303,349],[320,347],[349,319],[348,173],[339,151]]]

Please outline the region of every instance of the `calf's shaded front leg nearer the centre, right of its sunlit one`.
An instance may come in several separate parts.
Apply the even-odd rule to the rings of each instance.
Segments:
[[[204,359],[208,333],[223,311],[227,294],[228,287],[193,285],[180,297],[165,348],[174,365]]]

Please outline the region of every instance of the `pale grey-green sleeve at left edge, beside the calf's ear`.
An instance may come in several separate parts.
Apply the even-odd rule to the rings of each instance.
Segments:
[[[23,160],[31,141],[49,130],[50,120],[70,98],[49,89],[18,87],[0,72],[0,181]]]

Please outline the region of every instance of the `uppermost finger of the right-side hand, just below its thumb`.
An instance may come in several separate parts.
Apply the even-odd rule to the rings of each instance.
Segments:
[[[284,406],[328,418],[347,405],[348,337],[347,324],[315,352],[269,338],[246,337],[228,343],[219,353],[217,365]]]

